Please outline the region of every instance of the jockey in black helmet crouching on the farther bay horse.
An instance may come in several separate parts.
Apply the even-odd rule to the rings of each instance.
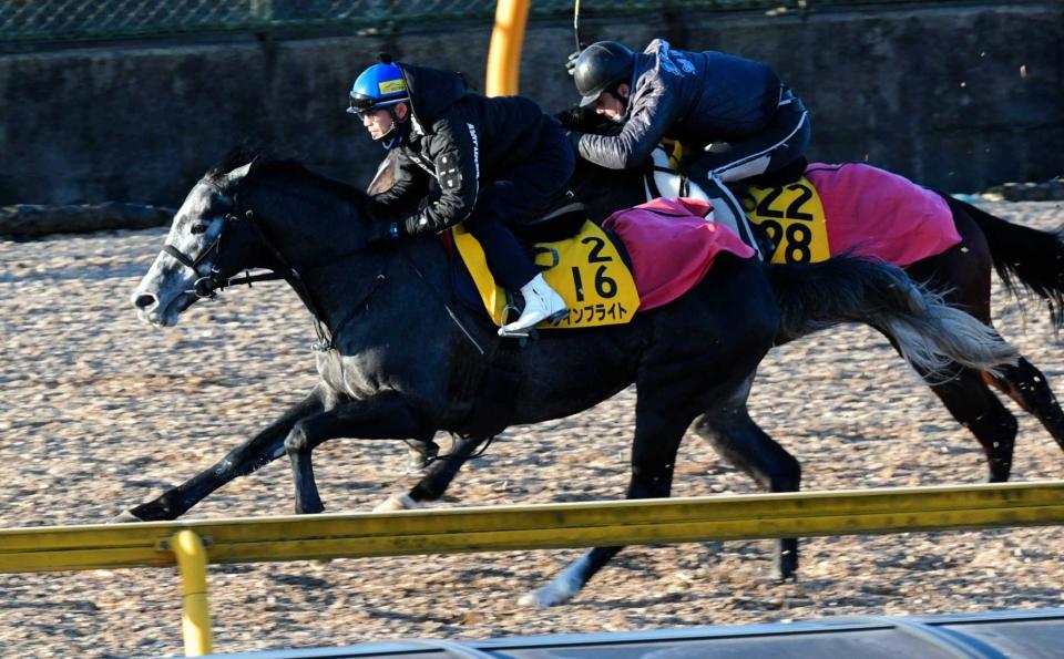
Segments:
[[[623,124],[616,135],[570,133],[579,155],[614,169],[640,167],[663,137],[682,145],[681,165],[714,203],[714,217],[756,249],[743,210],[724,185],[774,172],[809,144],[801,101],[769,66],[715,51],[673,50],[655,39],[643,53],[600,41],[576,56],[582,99]]]

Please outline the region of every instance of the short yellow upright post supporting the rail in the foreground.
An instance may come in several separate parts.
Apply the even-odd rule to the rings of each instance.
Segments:
[[[181,631],[185,639],[185,656],[203,657],[214,650],[211,610],[207,607],[207,550],[191,528],[175,533],[171,543],[181,569],[184,595]]]

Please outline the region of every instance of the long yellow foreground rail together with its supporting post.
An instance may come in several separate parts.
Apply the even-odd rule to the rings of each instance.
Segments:
[[[0,573],[180,563],[186,652],[209,651],[206,564],[1064,524],[1064,481],[0,531]],[[200,544],[202,542],[202,544]],[[204,545],[206,549],[204,549]]]

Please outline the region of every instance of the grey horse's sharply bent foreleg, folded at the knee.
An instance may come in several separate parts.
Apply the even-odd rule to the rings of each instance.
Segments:
[[[336,437],[362,440],[399,440],[423,437],[426,428],[398,394],[350,401],[296,422],[284,440],[284,450],[291,462],[296,486],[296,513],[320,513],[325,509],[314,481],[310,454],[318,444]]]

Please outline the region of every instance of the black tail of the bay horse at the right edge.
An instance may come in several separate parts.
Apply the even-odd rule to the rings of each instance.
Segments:
[[[972,204],[943,197],[954,215],[966,214],[986,236],[994,269],[1009,292],[1019,297],[1022,286],[1039,296],[1050,307],[1053,326],[1064,327],[1064,236],[1012,224]]]

